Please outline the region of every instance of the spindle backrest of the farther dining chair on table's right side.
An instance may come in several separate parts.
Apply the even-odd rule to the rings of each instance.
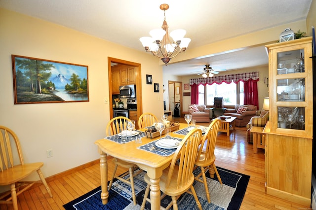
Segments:
[[[197,160],[199,160],[199,157],[201,154],[203,154],[204,161],[208,161],[212,158],[215,151],[215,144],[217,139],[217,133],[219,130],[221,120],[216,118],[212,121],[212,123],[208,126],[208,128],[205,131],[205,134],[201,141],[201,146],[197,153]]]

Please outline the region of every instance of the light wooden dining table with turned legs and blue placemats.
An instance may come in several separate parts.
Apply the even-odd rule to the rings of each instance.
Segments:
[[[205,130],[205,127],[200,127],[202,130]],[[181,141],[186,133],[188,133],[187,128],[188,124],[180,123],[178,130],[171,131],[171,138]],[[121,142],[117,135],[95,141],[95,144],[98,146],[98,153],[100,154],[101,200],[104,205],[108,203],[109,198],[107,156],[112,156],[136,164],[139,168],[147,171],[151,182],[151,209],[160,210],[160,177],[163,169],[170,165],[176,148],[171,150],[171,153],[165,153],[163,150],[160,151],[159,148],[152,150],[155,142],[160,139],[160,135],[154,138],[147,137],[145,133],[147,129],[142,128],[137,130],[139,131],[142,143],[136,143],[134,139],[139,139],[137,136],[126,143]],[[164,135],[162,135],[163,137]]]

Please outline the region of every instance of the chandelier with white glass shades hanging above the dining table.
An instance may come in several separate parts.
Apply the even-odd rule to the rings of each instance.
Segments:
[[[163,10],[164,20],[161,26],[162,29],[154,29],[149,32],[152,37],[142,37],[139,39],[142,42],[147,52],[153,53],[167,65],[171,58],[177,56],[180,52],[185,52],[191,39],[184,38],[186,31],[183,29],[177,29],[170,32],[170,37],[173,42],[170,41],[168,34],[168,24],[166,22],[165,10],[169,8],[169,5],[164,3],[159,7]]]

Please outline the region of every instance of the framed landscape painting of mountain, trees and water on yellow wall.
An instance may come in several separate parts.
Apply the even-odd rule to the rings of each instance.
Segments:
[[[12,55],[14,104],[89,101],[88,66]]]

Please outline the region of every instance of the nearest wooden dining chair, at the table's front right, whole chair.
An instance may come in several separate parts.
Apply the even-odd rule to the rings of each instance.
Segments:
[[[165,195],[169,195],[172,198],[172,201],[168,204],[165,210],[168,210],[171,206],[173,206],[174,210],[177,210],[177,199],[185,192],[194,196],[198,209],[202,210],[201,204],[197,198],[197,193],[193,187],[193,168],[201,136],[202,132],[200,129],[195,128],[191,130],[183,138],[175,151],[170,166],[162,171],[162,176],[160,177],[159,182],[160,190],[163,192],[161,198],[165,197]],[[150,178],[146,174],[144,179],[147,182],[147,188],[145,190],[141,210],[144,210],[146,201],[150,202],[150,199],[147,198],[150,192]],[[160,209],[163,208],[161,207]]]

